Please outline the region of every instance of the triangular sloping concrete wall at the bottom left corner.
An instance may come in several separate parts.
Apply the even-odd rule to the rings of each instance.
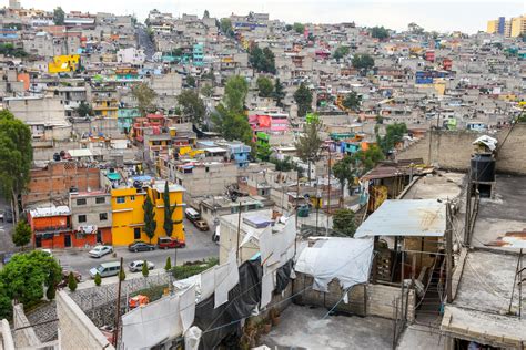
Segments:
[[[114,349],[102,332],[63,290],[57,292],[59,341],[63,350]]]

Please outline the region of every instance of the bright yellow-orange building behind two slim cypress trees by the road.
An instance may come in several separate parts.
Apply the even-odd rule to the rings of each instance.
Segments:
[[[173,231],[172,237],[185,241],[183,230],[184,188],[171,184],[170,205],[175,206],[172,215]],[[155,236],[152,243],[156,243],[158,237],[166,236],[164,225],[164,182],[158,182],[144,191],[134,187],[113,188],[111,191],[111,209],[113,216],[112,238],[114,246],[128,246],[134,240],[150,241],[144,233],[144,210],[142,208],[146,196],[150,196],[155,213]]]

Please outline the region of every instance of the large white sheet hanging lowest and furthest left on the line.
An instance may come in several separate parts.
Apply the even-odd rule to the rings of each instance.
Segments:
[[[149,349],[182,334],[178,295],[136,308],[122,317],[124,349]]]

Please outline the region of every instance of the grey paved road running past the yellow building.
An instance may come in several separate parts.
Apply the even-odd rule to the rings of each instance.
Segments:
[[[199,231],[186,219],[184,219],[184,227],[186,230],[186,247],[176,249],[178,265],[181,265],[184,261],[202,260],[219,256],[219,246],[212,241],[212,231]],[[53,251],[53,255],[59,259],[62,266],[71,267],[82,274],[84,280],[90,278],[89,271],[91,268],[97,267],[100,262],[119,260],[120,257],[124,258],[125,265],[133,260],[152,261],[155,264],[155,269],[164,268],[168,256],[171,257],[172,265],[175,258],[175,249],[155,249],[153,251],[132,253],[128,251],[125,247],[118,247],[115,251],[117,258],[107,255],[100,259],[89,257],[88,249],[55,250]]]

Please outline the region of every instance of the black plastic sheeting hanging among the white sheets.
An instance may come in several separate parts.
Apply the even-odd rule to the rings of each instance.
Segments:
[[[224,339],[237,344],[241,321],[252,313],[261,300],[261,260],[249,260],[239,267],[239,284],[229,291],[229,302],[214,308],[214,296],[195,307],[194,326],[203,330],[199,349],[214,349]]]

